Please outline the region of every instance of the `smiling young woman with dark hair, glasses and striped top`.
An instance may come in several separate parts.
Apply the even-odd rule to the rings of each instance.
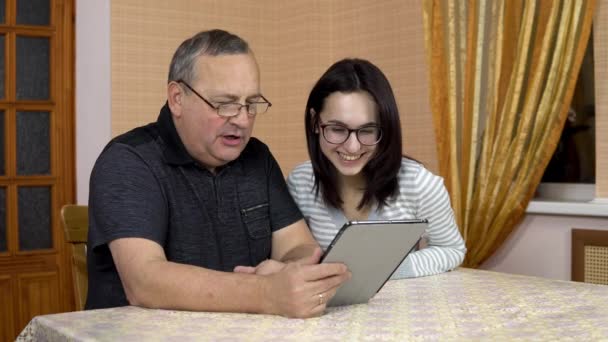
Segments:
[[[443,179],[403,156],[397,103],[378,67],[361,59],[332,65],[308,97],[305,125],[311,160],[291,172],[288,186],[323,249],[346,221],[422,218],[428,245],[393,278],[462,263],[466,247]]]

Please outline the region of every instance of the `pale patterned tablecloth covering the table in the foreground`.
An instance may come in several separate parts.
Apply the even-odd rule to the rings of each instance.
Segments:
[[[460,268],[311,319],[138,307],[38,316],[18,341],[608,341],[608,286]]]

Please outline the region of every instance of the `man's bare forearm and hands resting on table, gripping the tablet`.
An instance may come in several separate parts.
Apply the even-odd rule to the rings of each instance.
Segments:
[[[299,260],[268,274],[219,272],[166,260],[144,261],[125,273],[130,284],[125,285],[125,292],[129,303],[147,308],[318,316],[325,310],[319,293],[331,298],[350,274],[342,264],[319,265],[321,250],[315,247],[294,248],[290,252]],[[311,250],[312,256],[298,258]]]

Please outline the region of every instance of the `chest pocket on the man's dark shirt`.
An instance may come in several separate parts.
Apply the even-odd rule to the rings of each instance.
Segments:
[[[253,266],[270,258],[272,230],[268,203],[256,204],[241,209],[241,219],[249,239],[249,253]]]

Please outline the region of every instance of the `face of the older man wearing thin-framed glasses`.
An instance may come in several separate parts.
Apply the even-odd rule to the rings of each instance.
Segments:
[[[259,70],[251,54],[201,56],[195,72],[190,86],[215,107],[261,101]],[[246,108],[234,117],[219,116],[216,109],[180,86],[181,103],[173,117],[188,153],[211,170],[238,158],[251,137],[255,117]]]

